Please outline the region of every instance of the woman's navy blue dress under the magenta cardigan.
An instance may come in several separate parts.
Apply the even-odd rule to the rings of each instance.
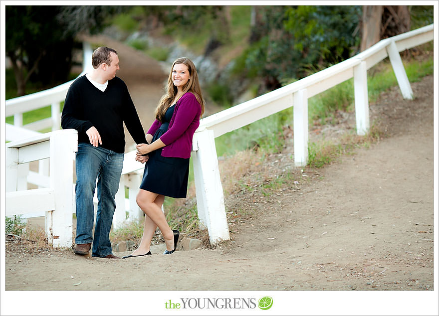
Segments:
[[[164,122],[154,133],[152,142],[159,139],[168,130],[174,109],[175,105],[169,107],[166,111]],[[188,191],[189,158],[163,157],[161,154],[161,148],[148,154],[149,159],[145,162],[145,170],[140,188],[174,198],[186,197]]]

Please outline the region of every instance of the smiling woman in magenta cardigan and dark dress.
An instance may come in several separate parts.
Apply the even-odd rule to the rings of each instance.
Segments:
[[[151,255],[151,240],[157,227],[165,239],[164,254],[172,254],[177,248],[180,233],[169,227],[162,205],[165,196],[186,197],[192,138],[203,113],[204,100],[195,65],[186,57],[179,58],[172,65],[167,93],[161,98],[156,120],[146,134],[148,144],[136,146],[136,160],[147,160],[136,197],[145,213],[145,227],[139,247],[124,259]]]

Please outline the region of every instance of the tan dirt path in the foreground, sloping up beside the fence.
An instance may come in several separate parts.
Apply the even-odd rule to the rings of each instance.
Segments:
[[[123,54],[121,57],[123,63]],[[433,76],[412,88],[413,101],[403,100],[395,88],[371,105],[371,122],[380,118],[388,133],[378,144],[359,148],[325,168],[304,169],[299,189],[285,186],[266,198],[250,191],[226,196],[228,210],[251,209],[253,215],[232,224],[231,240],[215,249],[163,256],[160,245],[152,248],[152,256],[107,260],[76,256],[71,249],[26,250],[6,242],[5,289],[433,292]],[[282,169],[291,164],[287,157],[285,153],[269,162],[274,164],[276,159]],[[68,297],[70,302],[77,298]],[[179,296],[169,293],[156,304],[161,307],[168,297]],[[135,308],[136,298],[116,303]],[[335,309],[334,313],[362,302],[345,296],[331,305],[325,297],[318,298],[330,304],[327,311]],[[381,302],[376,297],[373,300]],[[389,306],[398,311],[398,299],[386,300],[387,307],[381,312]],[[412,303],[405,309],[407,315],[421,315],[416,314],[417,303]],[[307,311],[313,311],[319,304],[311,301],[308,307]],[[423,311],[425,306],[418,308]],[[307,314],[303,311],[302,315]],[[314,315],[324,315],[320,313]]]

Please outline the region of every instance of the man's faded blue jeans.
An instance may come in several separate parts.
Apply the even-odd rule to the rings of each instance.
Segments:
[[[112,253],[109,238],[114,197],[119,189],[124,154],[102,147],[79,143],[76,153],[76,244],[93,242],[92,256],[105,257]],[[97,179],[97,183],[96,183]],[[93,196],[97,187],[98,209],[94,222]]]

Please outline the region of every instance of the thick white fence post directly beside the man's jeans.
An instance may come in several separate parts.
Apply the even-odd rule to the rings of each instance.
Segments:
[[[59,130],[50,135],[50,187],[55,195],[55,210],[46,212],[47,241],[53,247],[71,247],[73,157],[78,150],[78,132]]]

